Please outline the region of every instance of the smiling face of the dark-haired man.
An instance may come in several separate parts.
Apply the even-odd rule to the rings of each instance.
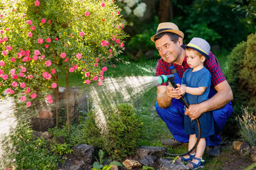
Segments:
[[[164,35],[155,41],[156,50],[165,62],[177,62],[181,55],[181,46],[179,42],[174,43],[168,35]]]

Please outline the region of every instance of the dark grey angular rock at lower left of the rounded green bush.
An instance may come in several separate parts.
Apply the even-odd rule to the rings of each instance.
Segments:
[[[71,149],[73,149],[75,157],[78,157],[78,159],[87,164],[92,164],[92,157],[95,152],[94,146],[82,144],[72,147]]]

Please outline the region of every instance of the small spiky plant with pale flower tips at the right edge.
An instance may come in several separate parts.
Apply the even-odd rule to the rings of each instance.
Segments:
[[[242,109],[242,116],[236,117],[240,125],[240,135],[251,146],[256,146],[256,115],[249,113],[248,108]]]

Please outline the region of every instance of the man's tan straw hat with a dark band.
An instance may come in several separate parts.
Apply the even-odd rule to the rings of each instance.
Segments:
[[[170,32],[170,33],[175,33],[181,38],[184,38],[184,34],[181,30],[178,30],[178,26],[176,26],[175,23],[159,23],[159,26],[156,30],[156,34],[153,35],[150,40],[154,42],[154,37],[158,35],[159,33],[164,33],[164,32]]]

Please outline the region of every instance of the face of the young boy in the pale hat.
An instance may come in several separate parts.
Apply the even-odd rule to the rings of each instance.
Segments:
[[[199,56],[198,52],[195,50],[186,50],[186,57],[188,66],[191,68],[196,68],[203,64],[206,60],[206,57]]]

